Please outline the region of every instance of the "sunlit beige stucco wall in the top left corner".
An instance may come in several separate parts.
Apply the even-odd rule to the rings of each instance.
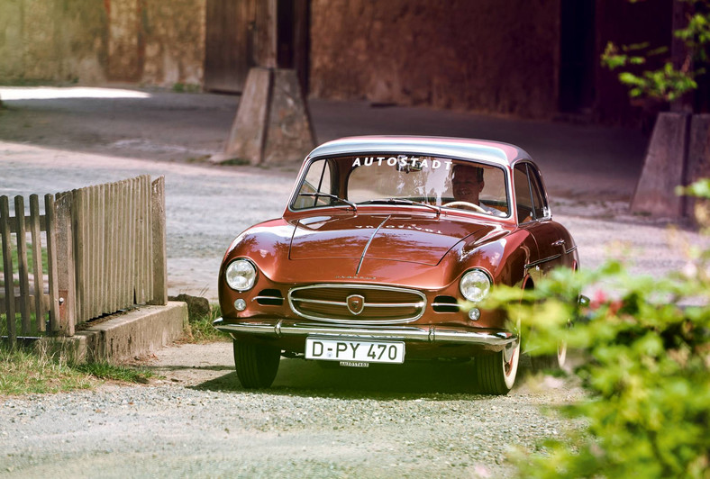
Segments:
[[[199,85],[205,1],[2,0],[0,82]]]

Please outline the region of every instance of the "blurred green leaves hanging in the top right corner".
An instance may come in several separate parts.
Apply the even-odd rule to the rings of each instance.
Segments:
[[[633,1],[633,0],[631,0]],[[638,1],[638,0],[637,0]],[[602,65],[610,70],[621,68],[619,81],[629,87],[633,97],[647,96],[673,101],[697,88],[696,78],[705,74],[710,60],[710,0],[678,0],[689,5],[685,28],[673,32],[686,46],[687,55],[682,65],[674,66],[669,49],[651,49],[648,43],[618,46],[606,44]],[[639,72],[650,59],[661,59],[662,66]]]

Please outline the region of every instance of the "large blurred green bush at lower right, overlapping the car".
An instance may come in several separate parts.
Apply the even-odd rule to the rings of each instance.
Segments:
[[[710,198],[710,180],[682,193]],[[710,202],[697,203],[710,217]],[[491,294],[487,307],[534,318],[522,331],[531,354],[567,341],[584,357],[575,373],[588,400],[561,412],[586,426],[542,453],[514,452],[520,477],[710,478],[710,250],[684,248],[687,264],[668,276],[633,276],[612,260]]]

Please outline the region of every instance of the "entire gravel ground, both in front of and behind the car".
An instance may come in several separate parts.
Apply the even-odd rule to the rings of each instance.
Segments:
[[[169,294],[214,299],[224,249],[250,224],[280,215],[297,166],[191,163],[221,149],[236,101],[220,95],[152,99],[6,102],[10,109],[0,114],[0,194],[54,193],[164,175]],[[380,128],[377,122],[402,124],[397,114],[410,127],[418,122],[419,131],[387,132],[463,135],[457,129],[475,120],[462,113],[393,109],[370,123],[371,112],[355,104],[348,113],[367,127],[350,131],[337,123],[342,111],[316,106],[320,140],[378,132],[368,130]],[[638,165],[629,158],[638,154],[638,139],[619,148],[585,149],[599,161],[614,151],[629,160],[622,165],[612,158],[621,165],[618,175],[599,186],[590,179],[596,170],[578,173],[587,162],[565,158],[575,140],[584,149],[604,131],[560,125],[559,148],[549,148],[540,124],[512,129],[500,119],[485,122],[491,125],[528,131],[533,154],[562,158],[560,167],[549,167],[548,184],[572,193],[558,197],[553,211],[577,240],[583,267],[615,255],[632,257],[641,273],[683,267],[679,243],[669,246],[662,222],[625,212],[624,199],[633,189],[629,178]],[[494,131],[480,136],[496,138]],[[524,138],[510,140],[525,145]],[[601,194],[609,189],[617,194]],[[692,231],[678,235],[694,244],[705,241]],[[136,362],[158,379],[0,398],[0,477],[506,477],[513,473],[505,460],[509,448],[535,449],[541,439],[578,427],[548,410],[583,397],[569,378],[527,382],[524,362],[520,385],[505,397],[476,394],[469,363],[363,371],[285,359],[271,390],[247,392],[233,373],[231,343],[175,345]]]

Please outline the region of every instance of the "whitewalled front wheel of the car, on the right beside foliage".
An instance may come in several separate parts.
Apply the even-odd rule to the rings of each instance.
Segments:
[[[515,384],[520,360],[520,340],[502,351],[476,358],[478,387],[485,394],[507,394]]]

